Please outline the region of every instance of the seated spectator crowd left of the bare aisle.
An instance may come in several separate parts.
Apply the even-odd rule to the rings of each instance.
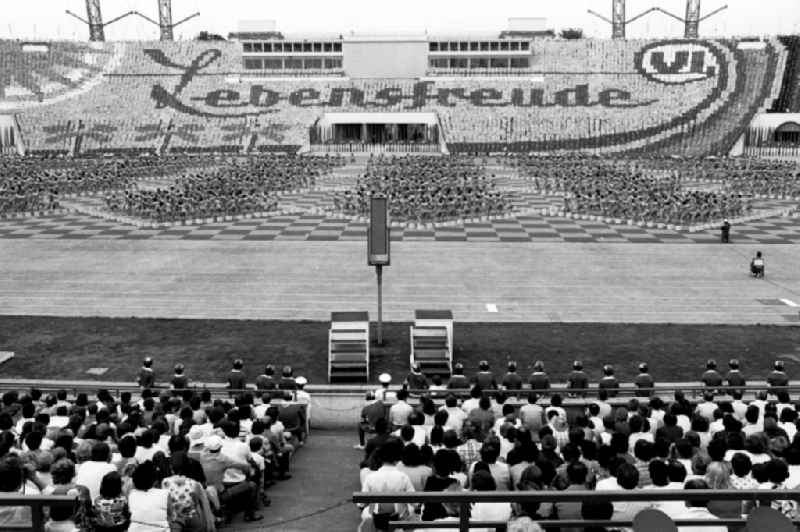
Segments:
[[[182,365],[169,389],[151,388],[150,359],[138,397],[3,394],[0,494],[75,497],[49,509],[47,532],[214,532],[238,513],[263,519],[268,488],[291,478],[305,441],[309,396],[291,368],[260,376],[254,390],[241,370],[235,361],[225,399],[189,388]],[[0,506],[0,529],[30,525],[30,507]]]

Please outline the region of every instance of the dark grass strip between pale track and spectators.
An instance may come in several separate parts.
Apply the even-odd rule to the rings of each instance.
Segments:
[[[408,372],[408,323],[384,324],[386,345],[372,347],[372,379],[388,371],[401,381]],[[374,329],[374,326],[373,326]],[[102,380],[133,380],[142,358],[155,359],[157,379],[169,379],[182,362],[191,379],[222,382],[234,358],[254,379],[267,363],[290,364],[311,383],[327,382],[328,323],[313,321],[165,320],[118,318],[0,317],[0,350],[16,357],[3,364],[5,378],[92,379],[86,371],[108,368]],[[373,337],[374,337],[373,330]],[[706,359],[721,368],[737,357],[742,371],[763,379],[772,361],[786,359],[800,378],[800,328],[779,326],[456,323],[455,360],[468,372],[487,359],[496,374],[516,360],[527,374],[541,359],[551,379],[562,380],[574,359],[592,378],[611,363],[625,381],[638,362],[650,364],[657,381],[697,379]],[[796,357],[796,360],[795,360]]]

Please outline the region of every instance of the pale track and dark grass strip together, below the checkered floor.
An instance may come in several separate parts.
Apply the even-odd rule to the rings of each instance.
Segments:
[[[17,353],[9,377],[79,379],[100,367],[104,380],[129,380],[153,356],[164,378],[183,362],[213,382],[241,357],[251,377],[291,364],[324,383],[330,312],[377,318],[363,241],[0,242],[0,349]],[[613,363],[629,379],[647,361],[660,380],[681,381],[709,357],[738,357],[756,377],[788,355],[791,370],[800,249],[761,249],[763,281],[747,273],[755,248],[741,244],[398,242],[384,275],[387,345],[373,348],[371,369],[403,375],[414,309],[448,308],[467,368],[487,358],[502,371],[513,359],[527,372],[542,359],[558,378],[579,358],[592,374]]]

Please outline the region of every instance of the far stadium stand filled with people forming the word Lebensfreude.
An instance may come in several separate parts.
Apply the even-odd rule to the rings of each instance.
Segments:
[[[68,150],[47,132],[74,136],[79,120],[90,151],[153,140],[133,131],[172,131],[177,151],[296,149],[326,110],[415,110],[438,114],[451,152],[727,154],[756,112],[794,98],[794,42],[534,40],[528,77],[420,80],[253,77],[236,43],[116,43],[93,85],[29,94],[19,116],[32,151]],[[234,133],[251,119],[255,143]]]

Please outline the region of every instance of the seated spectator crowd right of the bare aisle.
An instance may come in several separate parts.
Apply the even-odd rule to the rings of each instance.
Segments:
[[[591,392],[579,361],[559,391],[551,388],[541,362],[530,376],[517,374],[512,362],[502,377],[495,377],[485,361],[471,378],[456,365],[447,384],[439,377],[429,381],[412,368],[400,389],[391,389],[391,376],[381,375],[381,387],[367,393],[359,425],[361,491],[625,490],[653,495],[643,502],[472,504],[470,520],[505,522],[515,531],[541,530],[537,521],[542,520],[632,521],[646,508],[676,520],[710,520],[712,526],[703,529],[714,532],[743,530],[713,521],[747,516],[759,504],[791,519],[800,517],[798,501],[790,496],[771,502],[752,497],[659,500],[659,490],[800,486],[800,404],[786,391],[789,379],[780,361],[752,400],[745,400],[747,383],[738,360],[729,362],[725,375],[715,361],[708,362],[698,401],[680,390],[669,397],[657,393],[646,364],[634,381],[634,397],[615,399],[620,385],[614,368],[603,369]],[[565,404],[565,395],[581,397],[579,406]],[[442,397],[443,404],[434,401]],[[391,520],[418,520],[419,530],[426,530],[426,522],[458,519],[457,504],[372,503],[362,506],[361,529],[384,530]]]

